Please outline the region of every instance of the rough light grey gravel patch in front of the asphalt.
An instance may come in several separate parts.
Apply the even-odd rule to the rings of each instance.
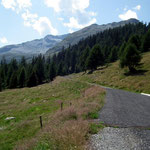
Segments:
[[[89,150],[150,150],[150,130],[107,127],[92,136]]]

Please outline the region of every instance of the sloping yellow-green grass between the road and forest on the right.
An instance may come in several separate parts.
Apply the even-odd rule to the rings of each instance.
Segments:
[[[136,74],[129,74],[128,69],[121,69],[119,61],[104,66],[92,74],[79,73],[74,76],[79,81],[96,83],[112,88],[124,89],[138,93],[150,94],[150,52],[144,53],[141,66],[137,67]]]

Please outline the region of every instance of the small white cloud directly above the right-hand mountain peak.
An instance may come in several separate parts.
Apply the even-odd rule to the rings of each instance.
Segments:
[[[132,11],[132,10],[128,10],[127,12],[125,12],[124,14],[120,14],[119,15],[119,18],[121,20],[128,20],[128,19],[131,19],[131,18],[135,18],[135,19],[138,19],[138,16],[136,14],[136,12]]]

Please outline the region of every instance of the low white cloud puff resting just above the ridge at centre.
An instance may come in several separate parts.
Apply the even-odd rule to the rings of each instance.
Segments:
[[[75,19],[74,17],[71,17],[69,23],[64,23],[64,26],[70,28],[69,30],[71,31],[72,29],[84,28],[84,27],[89,26],[89,25],[91,25],[93,23],[96,23],[96,19],[95,18],[90,20],[90,22],[88,22],[87,24],[79,24],[77,19]]]

